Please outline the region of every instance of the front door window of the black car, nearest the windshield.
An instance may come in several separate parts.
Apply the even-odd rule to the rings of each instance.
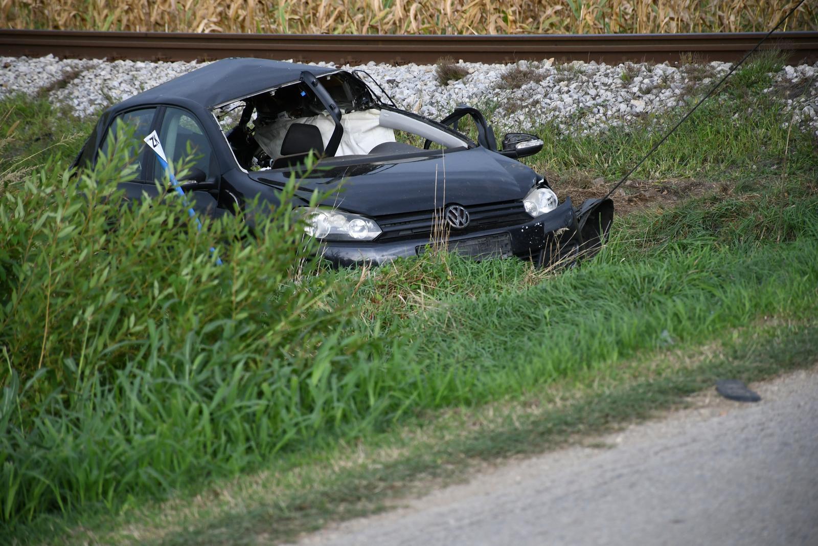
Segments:
[[[205,136],[205,130],[190,112],[179,108],[166,108],[159,138],[164,155],[173,163],[174,173],[180,161],[190,156],[193,160],[193,169],[199,169],[204,173],[205,180],[218,176],[218,162],[213,154],[213,147]],[[164,167],[156,161],[154,178],[163,180],[164,176]]]

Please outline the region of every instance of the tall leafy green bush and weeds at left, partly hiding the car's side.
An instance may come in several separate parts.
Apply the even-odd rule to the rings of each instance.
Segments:
[[[238,472],[375,404],[377,347],[348,333],[350,292],[313,274],[291,207],[198,232],[173,193],[115,192],[131,169],[114,148],[0,201],[7,525]]]

